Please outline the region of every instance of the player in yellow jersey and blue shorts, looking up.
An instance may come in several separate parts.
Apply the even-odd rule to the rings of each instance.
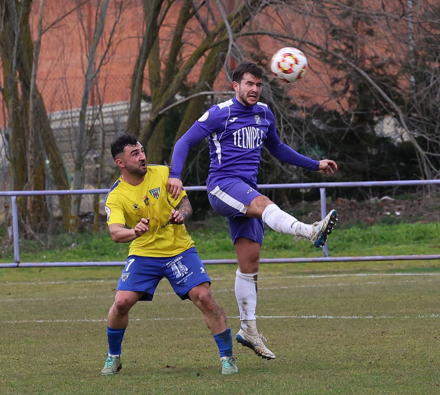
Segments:
[[[169,168],[147,165],[136,137],[124,134],[110,147],[122,175],[105,199],[107,224],[116,243],[131,244],[108,314],[109,352],[101,374],[121,370],[128,312],[137,301],[151,301],[163,277],[182,300],[190,299],[202,311],[219,348],[221,373],[237,373],[226,315],[211,294],[211,280],[183,225],[192,214],[186,192],[176,200],[171,198],[167,192]]]

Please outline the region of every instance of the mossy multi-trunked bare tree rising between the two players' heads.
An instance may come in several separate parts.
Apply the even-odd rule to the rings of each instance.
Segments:
[[[187,89],[187,87],[185,88],[187,78],[198,64],[202,65],[198,83],[187,91],[187,94],[196,94],[212,89],[213,83],[231,51],[232,34],[238,33],[250,19],[271,2],[262,0],[243,1],[229,15],[226,14],[227,8],[223,4],[219,1],[215,3],[216,11],[213,12],[209,2],[190,0],[182,2],[175,28],[171,37],[167,37],[169,49],[166,56],[161,58],[164,64],[162,71],[160,58],[158,58],[159,46],[156,43],[156,47],[154,47],[154,43],[158,40],[159,27],[169,10],[169,3],[144,1],[145,21],[148,21],[148,29],[133,72],[133,81],[138,81],[138,83],[132,84],[132,103],[127,130],[139,135],[139,140],[147,145],[147,161],[150,163],[160,163],[163,159],[164,129],[163,123],[161,123],[163,119],[161,110],[175,100],[176,94]],[[207,20],[204,20],[202,15],[205,15]],[[192,21],[194,21],[193,25],[190,23]],[[191,29],[194,29],[194,25],[198,27],[197,33],[191,31]],[[154,36],[154,33],[156,36]],[[185,36],[188,34],[191,37],[197,37],[196,40],[199,43],[197,41],[185,42]],[[188,47],[190,46],[192,49],[188,53]],[[150,119],[140,128],[138,110],[140,88],[142,87],[140,76],[143,74],[147,58],[150,71],[152,108]],[[189,102],[184,121],[178,128],[178,135],[181,135],[185,128],[194,121],[204,101],[203,95],[197,95]]]

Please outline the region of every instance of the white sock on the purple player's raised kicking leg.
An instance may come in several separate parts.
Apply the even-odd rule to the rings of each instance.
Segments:
[[[276,204],[268,204],[261,218],[275,232],[306,237],[307,239],[312,237],[313,225],[298,221],[295,217],[281,210]]]

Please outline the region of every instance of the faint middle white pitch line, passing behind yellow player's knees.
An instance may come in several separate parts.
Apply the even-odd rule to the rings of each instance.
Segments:
[[[431,279],[427,280],[428,282],[432,282]],[[407,284],[407,283],[419,283],[418,280],[404,280],[404,281],[398,281],[395,283],[390,283],[389,281],[368,281],[367,283],[364,283],[366,285],[371,284]],[[288,286],[262,286],[258,287],[259,290],[286,290],[286,289],[293,289],[293,288],[322,288],[327,286],[359,286],[359,284],[344,284],[344,283],[337,283],[337,284],[311,284],[311,285],[288,285]],[[216,292],[234,292],[235,290],[212,290],[215,294]],[[154,296],[160,296],[160,295],[175,295],[174,292],[157,292],[154,294]],[[31,301],[61,301],[61,300],[73,300],[73,299],[102,299],[102,298],[110,298],[114,297],[113,295],[109,296],[103,296],[103,295],[93,295],[93,296],[69,296],[69,297],[30,297],[30,298],[16,298],[16,299],[0,299],[0,303],[11,303],[11,302],[31,302]]]

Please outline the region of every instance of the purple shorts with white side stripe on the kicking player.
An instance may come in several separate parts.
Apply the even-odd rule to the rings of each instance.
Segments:
[[[217,214],[227,217],[232,242],[246,237],[262,245],[264,222],[260,218],[244,217],[250,202],[261,193],[239,178],[221,181],[208,193],[209,203]]]

